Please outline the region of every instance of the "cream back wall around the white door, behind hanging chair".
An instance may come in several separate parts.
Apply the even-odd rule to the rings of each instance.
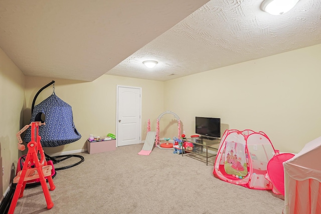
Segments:
[[[36,93],[52,79],[26,77],[25,123],[31,118],[31,106]],[[55,79],[55,94],[72,106],[74,124],[81,139],[63,146],[45,148],[48,154],[87,149],[85,142],[90,134],[104,136],[116,134],[116,85],[141,87],[142,140],[146,137],[147,121],[152,129],[159,112],[164,109],[164,82],[103,75],[93,82]],[[44,89],[35,105],[53,93],[53,85]]]

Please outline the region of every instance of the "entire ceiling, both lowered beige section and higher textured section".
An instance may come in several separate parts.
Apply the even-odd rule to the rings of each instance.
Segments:
[[[0,0],[0,47],[29,76],[166,81],[321,43],[321,0],[207,2]]]

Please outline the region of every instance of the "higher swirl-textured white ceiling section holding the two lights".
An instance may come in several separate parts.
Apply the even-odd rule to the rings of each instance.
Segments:
[[[280,16],[260,5],[212,0],[107,74],[165,81],[321,43],[320,0]],[[149,59],[158,61],[153,69],[142,64]]]

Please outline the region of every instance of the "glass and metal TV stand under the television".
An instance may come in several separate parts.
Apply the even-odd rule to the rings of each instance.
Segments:
[[[215,149],[216,151],[219,149],[218,146],[221,142],[220,139],[207,139],[207,138],[204,138],[204,137],[192,137],[192,138],[187,138],[187,139],[183,139],[184,141],[187,141],[187,142],[190,142],[190,143],[193,143],[194,144],[194,147],[193,147],[193,150],[187,150],[187,149],[184,149],[185,152],[182,152],[182,156],[184,156],[184,153],[185,155],[188,155],[192,158],[194,158],[191,154],[196,154],[196,155],[200,155],[202,157],[205,157],[206,158],[206,165],[208,165],[208,159],[210,157],[214,157],[216,156],[216,154],[214,153],[209,153],[208,152],[208,148],[212,148],[212,149]],[[201,147],[201,150],[197,150],[196,147]],[[205,149],[205,151],[203,151]],[[201,160],[203,161],[202,159],[199,159],[199,158],[195,158],[195,159],[198,159],[198,160]]]

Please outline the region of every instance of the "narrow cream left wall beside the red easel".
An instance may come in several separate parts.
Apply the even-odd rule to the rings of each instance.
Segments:
[[[11,181],[12,164],[17,165],[18,139],[24,109],[24,78],[20,69],[0,49],[0,200],[8,190]]]

